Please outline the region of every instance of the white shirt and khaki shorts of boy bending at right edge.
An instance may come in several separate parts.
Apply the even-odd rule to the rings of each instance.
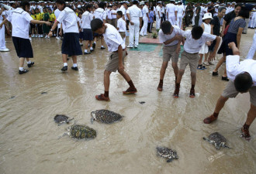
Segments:
[[[246,59],[239,62],[240,56],[227,56],[226,67],[227,77],[230,81],[227,84],[225,90],[223,90],[223,97],[237,97],[239,92],[234,86],[234,80],[237,74],[247,72],[251,75],[253,85],[249,90],[251,104],[256,106],[256,60]]]

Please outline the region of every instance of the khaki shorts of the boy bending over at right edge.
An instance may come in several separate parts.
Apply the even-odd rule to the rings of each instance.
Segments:
[[[238,93],[239,92],[237,92],[236,87],[234,86],[234,82],[230,80],[227,83],[227,87],[225,88],[225,90],[223,90],[223,94],[221,95],[227,98],[234,98],[237,97]],[[251,87],[249,93],[251,104],[256,106],[256,87]]]

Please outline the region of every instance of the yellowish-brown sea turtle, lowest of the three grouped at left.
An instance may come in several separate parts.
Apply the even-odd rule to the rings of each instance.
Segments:
[[[97,133],[93,128],[89,128],[86,125],[71,125],[67,128],[67,132],[64,135],[69,135],[71,138],[88,139],[95,138]],[[63,137],[62,135],[61,137]],[[60,138],[61,138],[60,137]]]

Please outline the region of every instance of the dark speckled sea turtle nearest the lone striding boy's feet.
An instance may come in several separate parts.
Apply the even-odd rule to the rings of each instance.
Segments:
[[[116,112],[113,112],[113,111],[105,110],[105,109],[92,111],[91,115],[92,115],[91,122],[98,121],[106,124],[110,124],[115,121],[121,121],[123,118],[122,115],[117,114]]]

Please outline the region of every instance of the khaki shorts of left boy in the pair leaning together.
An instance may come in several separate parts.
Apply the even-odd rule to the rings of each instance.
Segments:
[[[177,46],[178,45],[163,47],[163,62],[171,60],[172,63],[178,63],[178,54],[175,53]]]

